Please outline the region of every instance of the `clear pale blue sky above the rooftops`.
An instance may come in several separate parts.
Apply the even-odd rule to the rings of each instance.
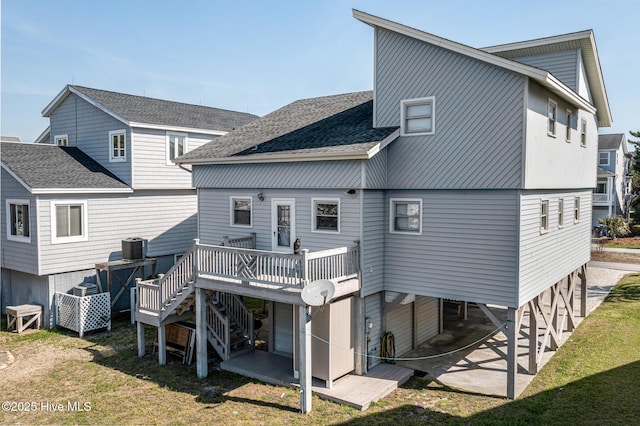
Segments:
[[[472,47],[592,29],[600,133],[640,130],[637,0],[1,1],[0,134],[23,141],[67,84],[257,115],[371,90],[373,29],[352,8]]]

